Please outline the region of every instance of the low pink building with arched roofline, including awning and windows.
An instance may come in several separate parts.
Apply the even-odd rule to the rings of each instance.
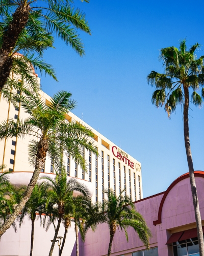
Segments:
[[[195,172],[201,219],[204,225],[204,172]],[[189,174],[177,178],[165,192],[135,202],[152,232],[150,250],[146,251],[134,229],[129,229],[129,243],[124,232],[116,231],[113,256],[198,256],[197,232],[192,203]],[[80,256],[107,255],[109,229],[99,225],[89,230],[81,245]],[[75,255],[75,250],[72,251]]]

